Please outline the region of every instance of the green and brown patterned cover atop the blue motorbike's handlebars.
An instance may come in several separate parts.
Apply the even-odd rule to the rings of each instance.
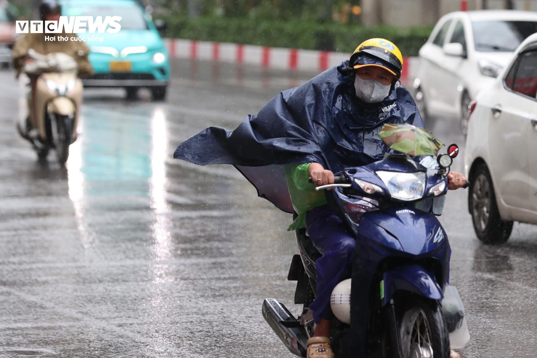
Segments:
[[[386,123],[379,136],[391,149],[411,156],[437,155],[444,145],[424,128],[407,123]]]

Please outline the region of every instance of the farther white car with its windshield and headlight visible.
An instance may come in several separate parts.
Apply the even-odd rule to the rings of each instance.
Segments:
[[[442,17],[419,50],[413,83],[420,113],[461,120],[466,133],[468,105],[511,59],[527,36],[537,32],[537,12],[468,11]]]

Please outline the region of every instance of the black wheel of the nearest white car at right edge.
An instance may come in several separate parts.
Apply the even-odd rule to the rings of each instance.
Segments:
[[[485,244],[505,243],[513,231],[513,222],[500,217],[487,165],[480,164],[472,174],[470,182],[468,207],[477,238]],[[488,208],[484,207],[487,204]],[[480,217],[484,214],[488,214],[488,217]]]

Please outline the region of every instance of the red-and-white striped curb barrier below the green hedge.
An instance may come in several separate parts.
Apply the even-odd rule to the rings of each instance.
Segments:
[[[324,71],[344,60],[350,53],[294,48],[240,45],[237,43],[164,39],[172,59],[192,59],[244,63],[266,68]],[[418,66],[416,57],[404,57],[402,79],[412,78]]]

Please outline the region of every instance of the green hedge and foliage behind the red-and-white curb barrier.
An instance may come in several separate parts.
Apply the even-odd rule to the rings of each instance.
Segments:
[[[384,37],[413,56],[431,32],[429,27],[364,28],[360,0],[153,1],[155,17],[169,25],[164,36],[172,38],[352,52],[361,41]]]

